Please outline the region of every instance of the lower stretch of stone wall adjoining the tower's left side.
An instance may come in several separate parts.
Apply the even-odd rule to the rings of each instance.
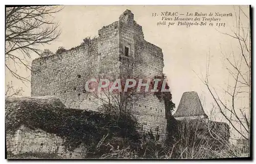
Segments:
[[[31,96],[52,95],[67,107],[80,108],[86,80],[97,71],[97,40],[32,62]]]

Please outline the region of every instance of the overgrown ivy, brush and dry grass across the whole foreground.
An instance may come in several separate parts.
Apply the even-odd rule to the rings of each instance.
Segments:
[[[248,153],[239,146],[222,144],[225,142],[222,138],[204,138],[205,130],[210,127],[204,122],[182,123],[169,117],[165,144],[160,144],[151,132],[140,135],[136,131],[136,122],[127,112],[117,115],[115,111],[76,110],[65,107],[56,99],[6,99],[8,133],[20,125],[40,128],[66,139],[64,144],[69,151],[85,145],[83,158],[230,158]],[[210,132],[217,134],[213,130]],[[218,144],[223,147],[217,149]],[[9,154],[8,158],[63,158],[50,152]]]

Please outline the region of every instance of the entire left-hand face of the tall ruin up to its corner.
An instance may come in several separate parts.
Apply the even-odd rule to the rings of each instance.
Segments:
[[[118,22],[99,30],[99,37],[61,54],[33,60],[31,96],[52,95],[67,107],[96,110],[98,101],[86,92],[90,78],[118,74]]]

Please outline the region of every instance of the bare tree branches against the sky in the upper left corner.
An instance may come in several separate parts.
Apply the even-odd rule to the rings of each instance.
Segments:
[[[6,8],[5,66],[17,79],[29,81],[27,77],[17,73],[16,66],[31,70],[27,60],[31,58],[31,53],[35,52],[40,55],[42,51],[38,49],[38,45],[49,44],[59,37],[58,24],[53,22],[52,14],[61,9],[56,6]],[[14,63],[14,67],[10,67],[10,62]]]

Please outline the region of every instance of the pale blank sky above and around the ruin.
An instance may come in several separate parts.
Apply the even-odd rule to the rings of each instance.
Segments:
[[[165,65],[163,72],[168,77],[176,108],[183,92],[196,91],[208,115],[212,106],[212,98],[195,72],[205,77],[206,59],[210,54],[210,85],[220,89],[226,83],[232,83],[232,78],[227,76],[221,50],[226,54],[230,54],[232,48],[235,52],[239,51],[237,40],[220,32],[229,33],[234,29],[233,25],[236,20],[233,6],[65,6],[62,11],[55,14],[54,18],[62,31],[59,39],[39,48],[55,52],[59,46],[66,49],[75,47],[82,42],[82,39],[97,36],[98,30],[117,21],[126,9],[133,12],[134,20],[142,26],[144,39],[162,48]],[[249,15],[249,7],[243,7],[243,9]],[[211,26],[186,28],[186,26],[177,25],[167,28],[156,25],[161,17],[152,17],[152,13],[160,14],[164,11],[177,11],[184,14],[186,12],[231,12],[233,17],[221,18],[222,22],[226,23],[225,28],[215,29]],[[249,20],[243,19],[243,22],[248,24]],[[35,58],[37,58],[36,54],[32,54],[29,62]],[[30,71],[26,71],[23,67],[18,69],[18,73],[30,76]],[[24,96],[30,96],[30,83],[25,85],[6,72],[6,83],[9,81],[12,81],[15,87],[22,87],[25,91]],[[240,103],[248,105],[249,100],[246,100]]]

